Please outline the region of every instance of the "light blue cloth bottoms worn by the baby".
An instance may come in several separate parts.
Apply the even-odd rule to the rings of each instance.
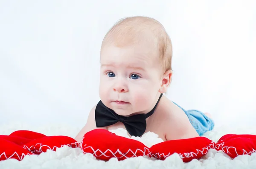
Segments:
[[[175,102],[173,102],[176,104]],[[177,104],[176,104],[177,105]],[[177,105],[180,107],[179,105]],[[202,136],[205,132],[210,131],[214,127],[214,121],[209,118],[207,115],[202,113],[198,110],[184,110],[182,107],[180,107],[181,110],[183,110],[186,115],[189,118],[190,123],[195,128],[195,130],[198,132],[198,135]]]

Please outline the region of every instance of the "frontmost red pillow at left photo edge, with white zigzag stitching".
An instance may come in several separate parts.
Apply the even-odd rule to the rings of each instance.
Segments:
[[[31,155],[33,153],[22,146],[19,146],[11,141],[0,139],[0,161],[15,158],[18,161],[22,160],[25,155]]]

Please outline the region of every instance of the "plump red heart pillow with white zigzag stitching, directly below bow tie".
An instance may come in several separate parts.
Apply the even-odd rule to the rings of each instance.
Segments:
[[[109,160],[117,158],[119,161],[131,157],[148,154],[148,147],[140,141],[115,135],[104,129],[87,132],[81,142],[84,153],[91,153],[97,159]]]

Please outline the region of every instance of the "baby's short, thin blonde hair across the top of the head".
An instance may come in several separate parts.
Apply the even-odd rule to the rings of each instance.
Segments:
[[[150,17],[126,17],[119,20],[105,35],[101,48],[107,43],[115,43],[116,46],[122,47],[143,40],[151,42],[152,39],[158,43],[158,55],[163,71],[172,70],[171,39],[163,25]]]

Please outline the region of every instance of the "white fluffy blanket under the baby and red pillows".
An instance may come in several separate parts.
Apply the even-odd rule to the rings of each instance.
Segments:
[[[225,134],[256,134],[255,127],[218,127],[207,132],[204,136],[212,141],[218,139]],[[0,135],[9,135],[16,130],[32,130],[45,135],[67,135],[75,137],[79,132],[79,128],[67,125],[45,125],[41,127],[33,127],[26,124],[6,124],[0,125]],[[124,130],[114,130],[117,135],[126,135]],[[142,141],[145,145],[151,146],[162,140],[157,138],[154,133],[146,133],[142,138],[134,138]],[[41,155],[26,156],[22,161],[14,159],[0,161],[0,169],[256,169],[256,153],[252,155],[242,155],[235,159],[231,159],[223,152],[217,152],[210,149],[204,158],[192,160],[189,163],[183,163],[177,154],[171,155],[164,161],[149,159],[146,157],[129,158],[124,161],[117,161],[115,158],[105,162],[96,160],[91,154],[83,154],[80,148],[71,149],[70,147],[62,147],[53,151],[41,153]]]

